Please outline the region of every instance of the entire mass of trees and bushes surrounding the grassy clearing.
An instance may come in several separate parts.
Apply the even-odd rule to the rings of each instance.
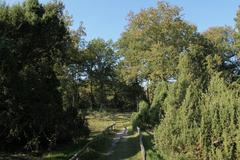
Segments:
[[[160,1],[130,13],[116,44],[87,42],[62,2],[0,3],[0,149],[79,142],[86,110],[116,108],[154,129],[152,158],[239,159],[240,10],[235,21],[201,34]]]

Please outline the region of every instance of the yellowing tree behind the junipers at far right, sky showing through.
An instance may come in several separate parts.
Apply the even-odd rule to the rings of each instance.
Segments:
[[[203,35],[209,39],[214,47],[215,54],[211,57],[212,69],[221,71],[228,81],[236,80],[239,63],[237,61],[236,32],[231,27],[212,27]],[[209,57],[210,58],[210,57]]]

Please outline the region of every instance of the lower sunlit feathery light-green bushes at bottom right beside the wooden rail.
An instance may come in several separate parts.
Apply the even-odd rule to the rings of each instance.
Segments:
[[[154,139],[167,159],[238,159],[239,86],[213,76],[206,93],[190,85],[178,108],[169,107]]]

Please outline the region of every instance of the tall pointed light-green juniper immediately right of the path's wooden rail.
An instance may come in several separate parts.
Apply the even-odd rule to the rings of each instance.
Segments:
[[[176,82],[171,84],[162,103],[165,113],[155,130],[158,150],[169,159],[194,159],[201,124],[202,93],[208,86],[206,57],[199,45],[190,45],[180,56]]]

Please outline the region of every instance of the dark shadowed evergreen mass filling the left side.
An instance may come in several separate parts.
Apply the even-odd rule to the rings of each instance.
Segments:
[[[63,104],[59,91],[55,67],[64,65],[71,46],[63,8],[37,0],[1,5],[2,149],[39,150],[88,133],[84,116]]]

